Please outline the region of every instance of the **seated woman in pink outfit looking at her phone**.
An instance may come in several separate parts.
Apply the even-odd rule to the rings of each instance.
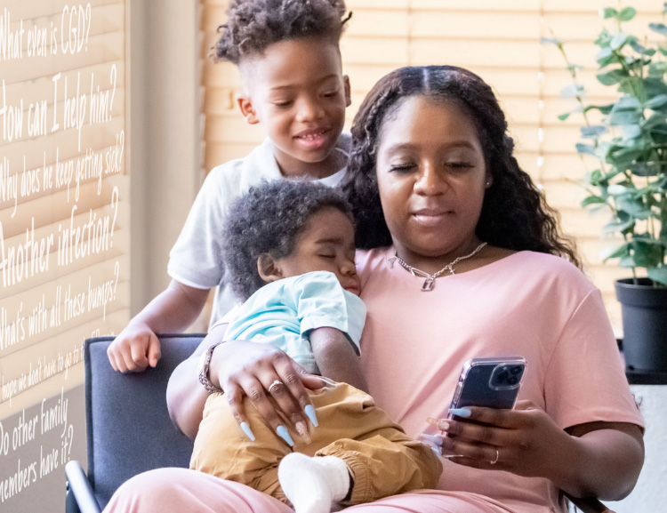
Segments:
[[[444,461],[438,490],[352,509],[565,511],[559,489],[618,500],[639,476],[641,418],[599,291],[559,258],[578,263],[512,156],[506,129],[488,85],[453,67],[392,72],[355,118],[346,189],[358,244],[370,249],[358,254],[369,391],[411,436],[438,417],[430,422],[448,436],[432,439],[454,457]],[[205,346],[219,338],[213,331]],[[528,362],[517,408],[473,407],[462,412],[467,419],[446,421],[462,364],[509,355]],[[182,365],[168,394],[174,421],[190,435],[205,401],[195,368],[193,360]],[[237,421],[247,395],[274,429],[307,421],[303,385],[318,386],[284,353],[244,342],[217,346],[208,377],[226,391]],[[284,385],[271,387],[275,381]],[[289,511],[181,469],[134,478],[109,507],[158,509]]]

